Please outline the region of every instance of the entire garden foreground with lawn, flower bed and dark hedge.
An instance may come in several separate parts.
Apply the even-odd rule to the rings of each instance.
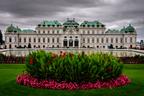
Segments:
[[[143,56],[54,54],[0,56],[0,96],[143,96]]]

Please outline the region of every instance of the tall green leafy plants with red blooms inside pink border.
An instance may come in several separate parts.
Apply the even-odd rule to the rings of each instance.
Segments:
[[[31,76],[57,82],[106,81],[120,76],[122,69],[123,65],[116,57],[102,53],[56,55],[36,51],[26,58],[26,71]]]

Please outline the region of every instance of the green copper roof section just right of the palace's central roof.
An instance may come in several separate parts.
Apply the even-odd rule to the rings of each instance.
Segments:
[[[99,21],[84,21],[81,23],[81,26],[86,26],[86,27],[104,27],[105,25],[102,24]]]

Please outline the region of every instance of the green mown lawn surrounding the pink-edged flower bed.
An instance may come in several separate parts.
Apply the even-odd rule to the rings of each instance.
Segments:
[[[49,90],[17,85],[15,78],[24,70],[22,64],[0,64],[0,96],[144,96],[144,64],[125,65],[124,74],[132,83],[114,89]]]

